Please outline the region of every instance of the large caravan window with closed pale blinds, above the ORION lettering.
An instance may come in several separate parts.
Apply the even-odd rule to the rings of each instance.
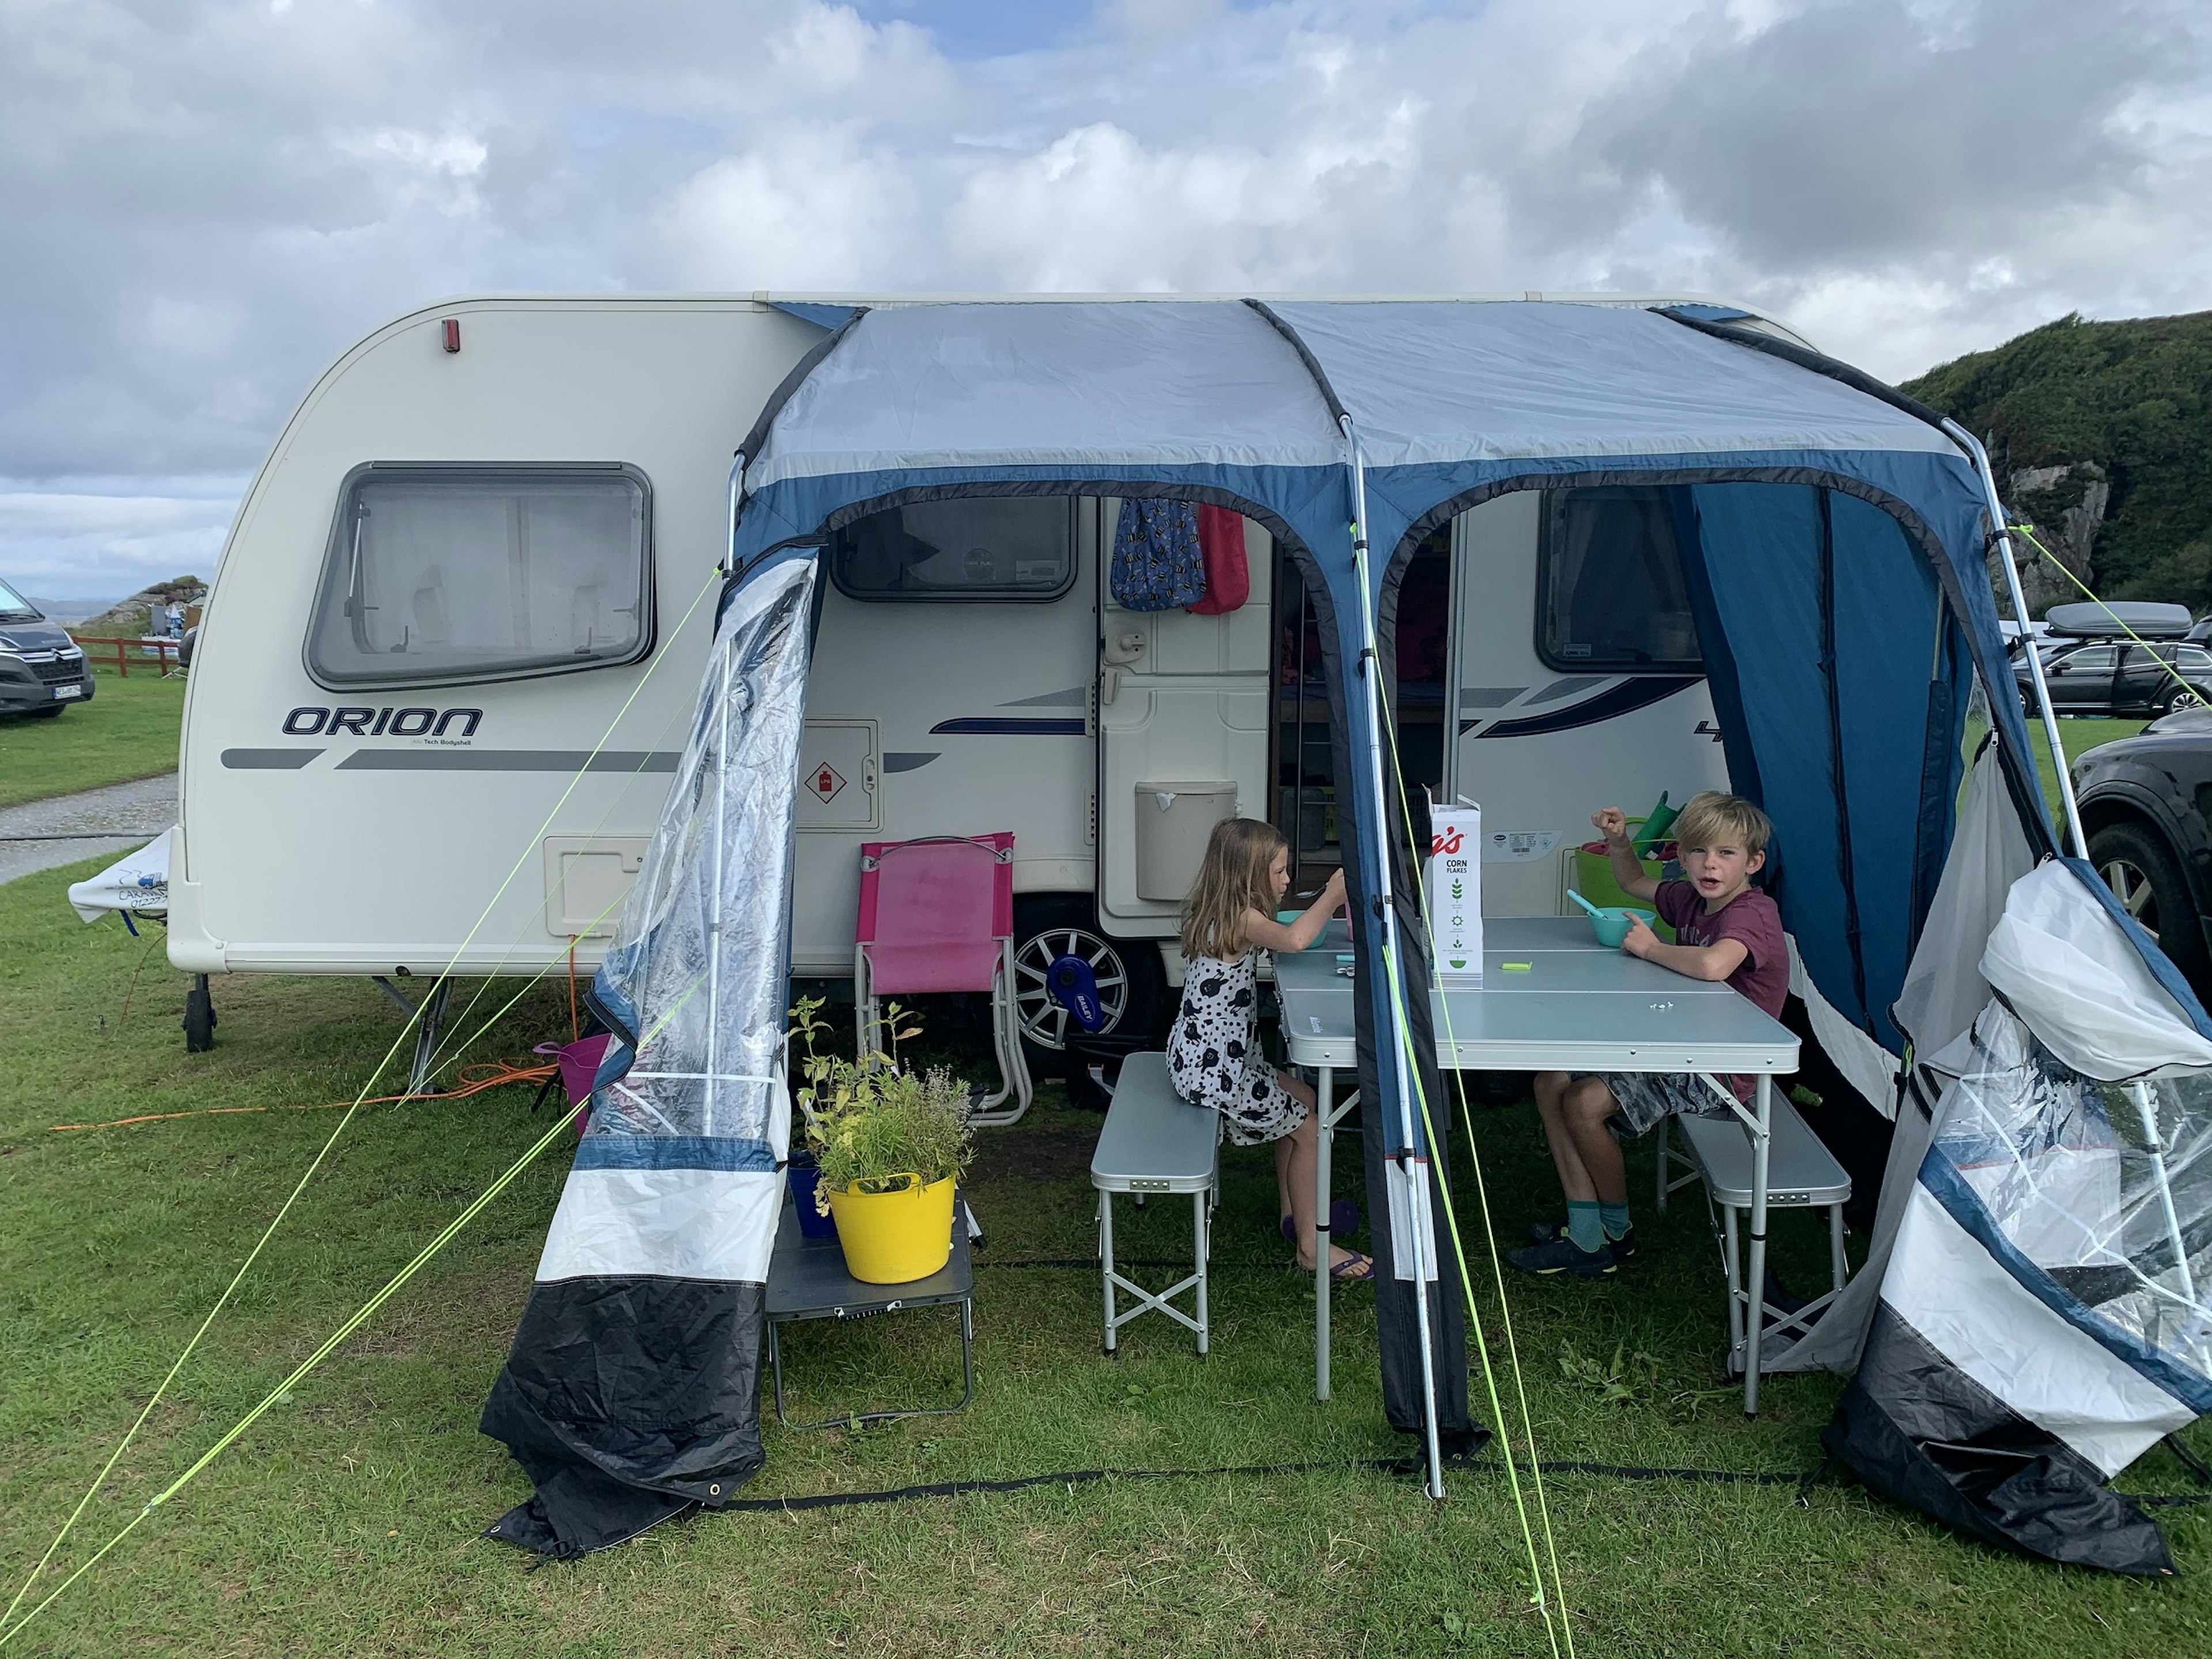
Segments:
[[[307,668],[336,688],[637,661],[653,648],[650,507],[630,467],[361,467],[338,495]]]

